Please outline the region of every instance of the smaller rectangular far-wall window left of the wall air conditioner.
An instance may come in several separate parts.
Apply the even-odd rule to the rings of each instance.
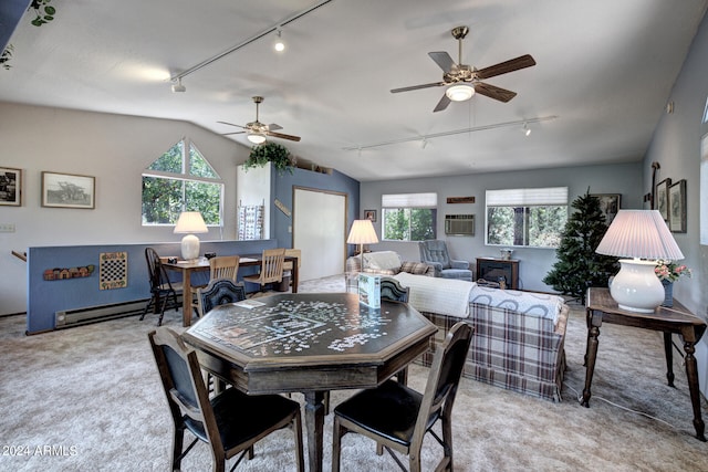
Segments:
[[[435,239],[438,195],[396,193],[381,197],[383,240]]]

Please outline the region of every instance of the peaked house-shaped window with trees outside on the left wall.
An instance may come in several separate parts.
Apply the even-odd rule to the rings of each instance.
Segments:
[[[143,225],[176,224],[183,211],[199,211],[207,225],[221,225],[222,203],[221,177],[188,138],[143,172]]]

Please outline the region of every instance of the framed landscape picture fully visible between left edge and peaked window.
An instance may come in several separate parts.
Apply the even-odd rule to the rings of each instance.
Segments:
[[[94,208],[95,177],[42,171],[42,207]]]

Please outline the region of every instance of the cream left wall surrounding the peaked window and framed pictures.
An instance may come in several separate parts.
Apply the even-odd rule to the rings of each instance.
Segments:
[[[189,136],[226,183],[225,227],[206,240],[236,239],[236,167],[249,149],[185,122],[0,103],[0,167],[22,170],[22,206],[0,207],[0,315],[27,308],[29,247],[179,241],[171,227],[140,224],[140,174]],[[41,172],[96,178],[95,209],[41,207]]]

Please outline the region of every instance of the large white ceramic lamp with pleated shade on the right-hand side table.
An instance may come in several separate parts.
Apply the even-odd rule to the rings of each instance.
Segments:
[[[656,259],[684,259],[658,210],[620,210],[595,250],[621,259],[610,294],[621,308],[654,313],[664,302],[664,285],[656,276]]]

